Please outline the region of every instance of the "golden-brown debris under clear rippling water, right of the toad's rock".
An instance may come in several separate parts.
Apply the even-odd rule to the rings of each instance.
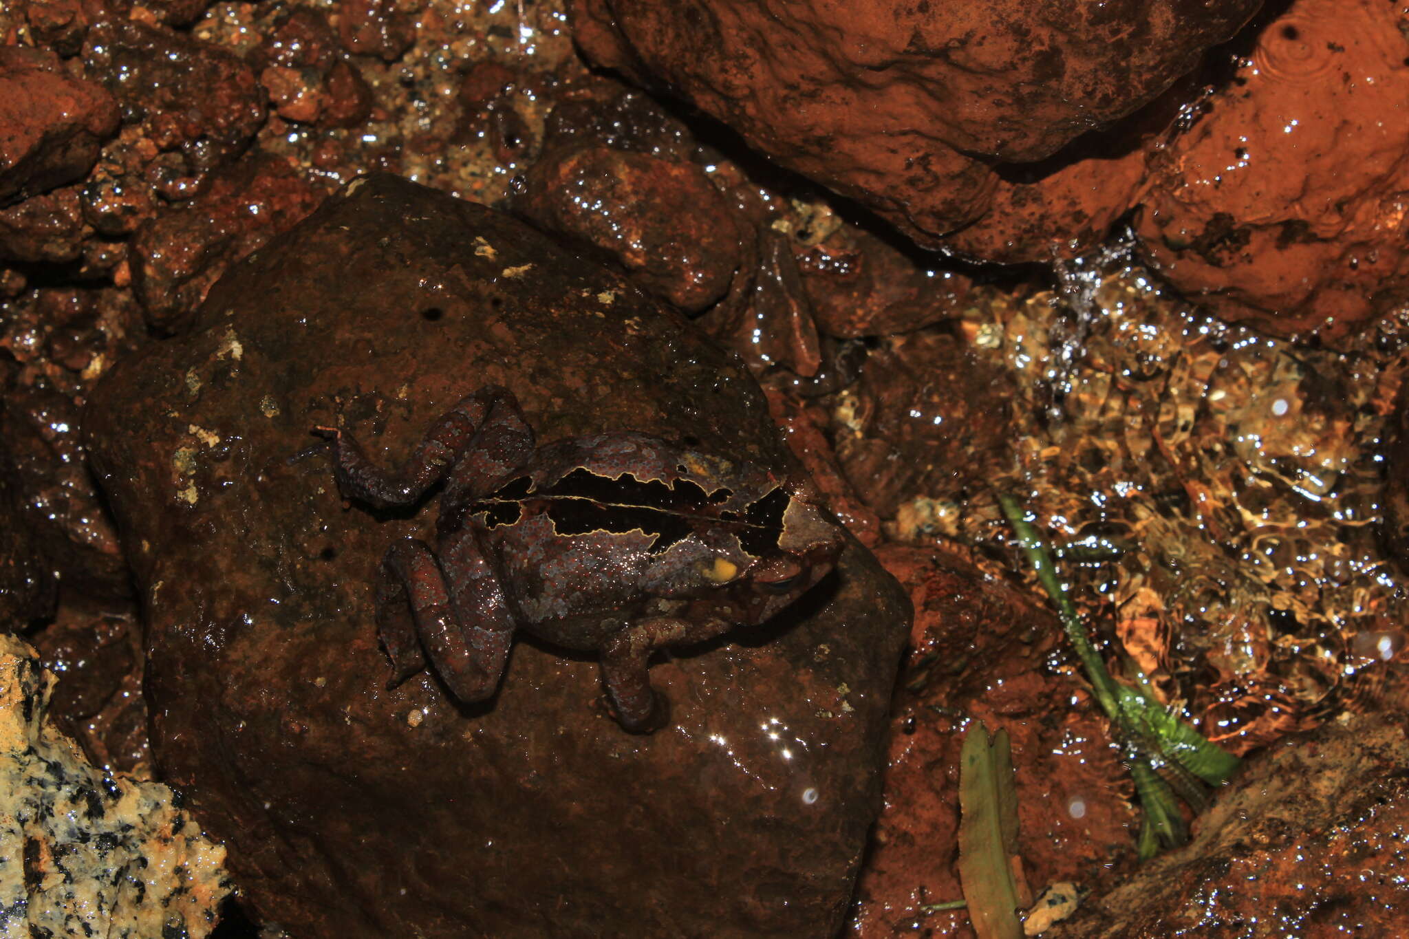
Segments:
[[[995,290],[965,314],[974,353],[1020,389],[993,484],[1022,494],[1082,614],[1205,736],[1243,755],[1316,726],[1403,645],[1374,531],[1394,321],[1337,353],[1193,313],[1119,252],[1074,276],[1079,290]],[[889,534],[1016,562],[988,493],[920,494]]]

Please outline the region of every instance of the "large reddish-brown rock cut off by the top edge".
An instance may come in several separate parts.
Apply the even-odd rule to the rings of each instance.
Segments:
[[[664,84],[921,242],[983,215],[991,166],[1120,118],[1233,35],[1258,0],[1099,7],[875,0],[578,0],[597,63]]]

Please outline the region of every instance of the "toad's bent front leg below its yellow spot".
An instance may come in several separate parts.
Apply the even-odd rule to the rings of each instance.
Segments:
[[[703,642],[730,628],[719,619],[690,622],[674,617],[641,619],[602,648],[602,684],[617,721],[631,733],[650,733],[671,719],[669,701],[651,687],[651,653],[668,645]]]

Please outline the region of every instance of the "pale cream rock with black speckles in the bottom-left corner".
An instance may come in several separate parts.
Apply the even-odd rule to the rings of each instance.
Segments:
[[[173,793],[89,764],[48,719],[52,677],[0,635],[0,909],[11,935],[210,935],[225,850]]]

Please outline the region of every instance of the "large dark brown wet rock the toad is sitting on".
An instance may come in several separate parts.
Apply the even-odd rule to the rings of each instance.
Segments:
[[[400,459],[490,382],[542,441],[630,428],[788,459],[738,360],[619,275],[480,206],[352,183],[87,411],[163,776],[299,936],[830,935],[906,622],[859,546],[790,621],[655,664],[672,725],[650,736],[595,707],[595,656],[537,642],[482,705],[424,672],[386,690],[372,574],[435,512],[344,508],[324,456],[290,458],[342,415]]]

